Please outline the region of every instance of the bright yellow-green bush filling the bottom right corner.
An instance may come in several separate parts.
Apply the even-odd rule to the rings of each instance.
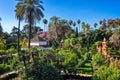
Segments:
[[[94,72],[93,80],[120,80],[120,70],[114,66],[101,66]]]

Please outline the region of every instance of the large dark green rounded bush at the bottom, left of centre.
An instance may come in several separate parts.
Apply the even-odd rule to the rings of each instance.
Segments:
[[[27,75],[27,78],[29,80],[61,80],[62,79],[60,74],[55,69],[55,67],[53,67],[50,64],[44,64],[40,62],[34,62],[33,64],[28,65],[26,67],[26,72],[23,72],[23,75]],[[26,78],[26,76],[24,78]]]

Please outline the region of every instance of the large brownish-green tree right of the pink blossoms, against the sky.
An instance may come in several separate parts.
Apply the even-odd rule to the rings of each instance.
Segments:
[[[53,16],[49,23],[49,34],[51,37],[65,39],[69,37],[72,33],[72,29],[69,25],[69,22],[66,19],[60,19],[59,17]]]

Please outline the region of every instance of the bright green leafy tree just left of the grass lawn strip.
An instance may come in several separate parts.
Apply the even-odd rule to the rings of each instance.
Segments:
[[[61,49],[58,53],[62,55],[61,66],[64,71],[69,71],[70,73],[76,72],[76,65],[78,64],[78,56],[73,50],[63,50]]]

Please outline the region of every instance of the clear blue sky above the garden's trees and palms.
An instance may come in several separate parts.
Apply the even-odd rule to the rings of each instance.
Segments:
[[[78,19],[81,22],[93,24],[99,23],[103,19],[120,18],[120,0],[42,0],[45,8],[44,18],[50,20],[52,16],[60,19],[73,20]],[[0,0],[0,17],[4,32],[10,33],[13,26],[18,26],[15,17],[16,0]],[[22,26],[26,23],[22,21]],[[43,28],[42,20],[37,26]]]

